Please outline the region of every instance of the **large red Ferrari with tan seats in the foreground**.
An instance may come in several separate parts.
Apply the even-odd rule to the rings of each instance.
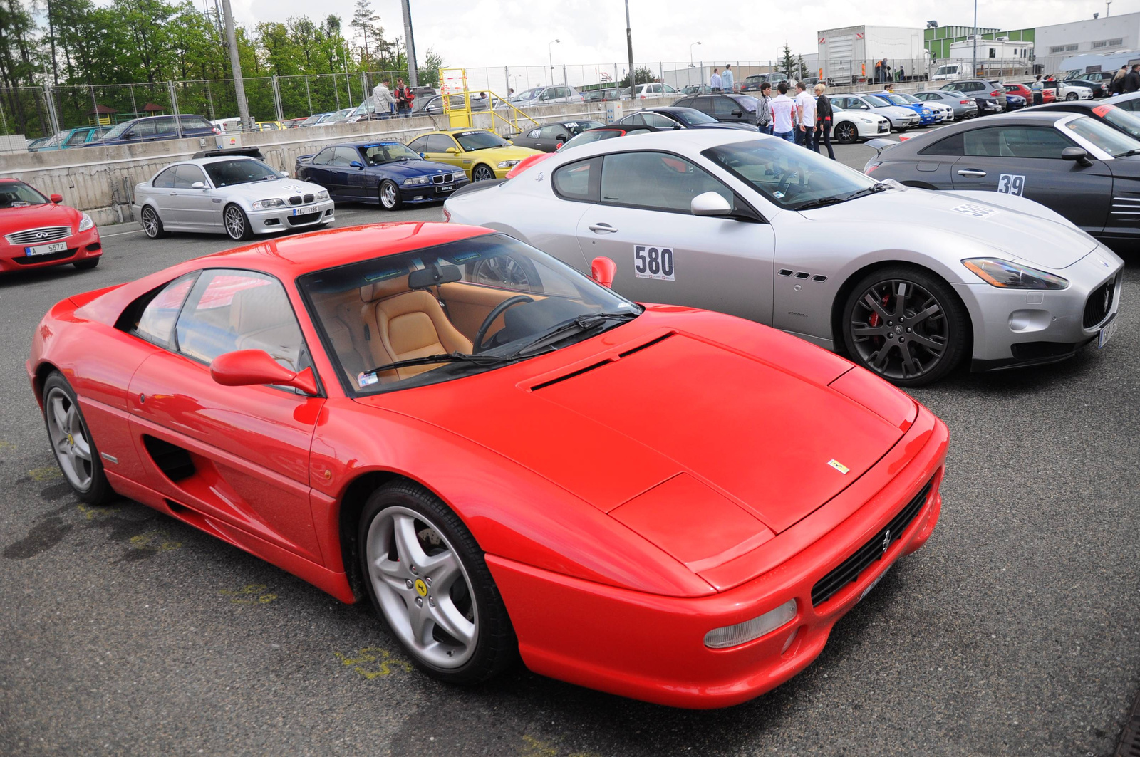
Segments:
[[[67,482],[370,602],[427,674],[724,707],[814,660],[938,520],[946,426],[766,326],[489,229],[386,223],[57,303]]]

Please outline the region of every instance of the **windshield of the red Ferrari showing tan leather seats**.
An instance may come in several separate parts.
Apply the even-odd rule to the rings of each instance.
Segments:
[[[298,286],[342,382],[359,394],[491,371],[620,326],[642,311],[503,234],[307,274]],[[388,317],[393,312],[402,316]]]

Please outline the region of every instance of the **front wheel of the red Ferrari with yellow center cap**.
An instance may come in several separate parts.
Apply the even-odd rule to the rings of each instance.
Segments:
[[[410,481],[377,489],[357,538],[373,608],[421,669],[477,684],[514,662],[519,643],[483,552],[438,497]]]

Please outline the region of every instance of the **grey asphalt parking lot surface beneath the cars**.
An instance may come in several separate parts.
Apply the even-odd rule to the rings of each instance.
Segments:
[[[336,225],[396,219],[441,213],[345,206]],[[439,684],[366,607],[142,505],[79,504],[24,373],[35,324],[70,294],[233,246],[132,227],[104,245],[93,271],[0,279],[0,754],[1113,752],[1140,689],[1140,252],[1105,349],[912,392],[951,431],[930,542],[801,675],[684,711],[521,667]]]

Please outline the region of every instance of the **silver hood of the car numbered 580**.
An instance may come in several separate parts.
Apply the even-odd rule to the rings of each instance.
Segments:
[[[1011,260],[1052,269],[1072,266],[1097,246],[1092,237],[1048,207],[995,192],[895,189],[801,215],[838,223],[872,221],[880,228],[911,223],[921,233],[948,231],[1001,250]]]

